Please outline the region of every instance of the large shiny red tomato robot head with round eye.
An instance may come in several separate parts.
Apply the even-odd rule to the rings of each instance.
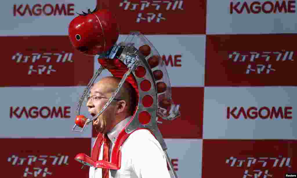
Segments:
[[[119,38],[119,27],[115,14],[108,10],[83,12],[69,24],[69,38],[72,45],[88,56],[108,51]]]

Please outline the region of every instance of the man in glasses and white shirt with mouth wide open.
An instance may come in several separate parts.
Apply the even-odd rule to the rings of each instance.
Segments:
[[[95,83],[90,90],[87,107],[92,116],[97,115],[113,96],[121,79],[105,77]],[[135,107],[134,89],[125,82],[121,90],[108,108],[95,120],[93,126],[97,132],[107,135],[109,155],[116,142],[119,132],[124,129],[132,117]],[[102,160],[104,153],[102,144],[98,160]],[[94,148],[96,147],[96,142]],[[93,149],[94,149],[93,148]],[[121,169],[109,170],[90,167],[89,178],[170,178],[166,157],[157,139],[148,130],[133,132],[121,148]],[[93,155],[92,155],[93,156]],[[110,161],[110,156],[108,158]],[[105,177],[106,174],[109,174]]]

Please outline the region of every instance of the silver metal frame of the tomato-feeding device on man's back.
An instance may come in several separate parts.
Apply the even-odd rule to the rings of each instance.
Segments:
[[[110,59],[113,59],[113,57],[115,57],[115,55],[116,55],[116,53],[118,52],[119,49],[121,49],[119,46],[114,46],[113,49],[111,51],[109,51],[109,54],[107,56],[111,57]],[[107,57],[107,56],[105,55],[105,56],[101,56],[101,57]],[[135,59],[133,61],[128,61],[127,62],[125,60],[125,59],[127,59],[127,56],[130,56],[130,57],[135,56]],[[132,58],[130,58],[130,59],[132,59]],[[138,84],[138,89],[140,90],[139,91],[139,100],[138,100],[137,111],[135,112],[134,116],[132,117],[130,122],[125,127],[125,132],[127,134],[130,134],[130,133],[132,133],[133,131],[135,131],[136,129],[139,129],[139,128],[145,128],[145,129],[151,130],[153,135],[156,137],[156,139],[158,140],[158,142],[162,146],[162,149],[163,149],[163,151],[165,153],[165,156],[166,156],[166,160],[168,161],[168,164],[170,166],[170,170],[173,173],[173,176],[175,178],[177,178],[176,172],[173,169],[172,163],[171,163],[170,158],[168,156],[168,153],[166,151],[167,150],[167,145],[166,145],[166,143],[165,143],[165,141],[164,141],[164,139],[162,137],[162,134],[161,134],[161,132],[160,132],[158,126],[157,126],[157,120],[155,119],[157,117],[157,109],[158,109],[158,94],[157,94],[156,81],[154,79],[154,75],[153,75],[153,73],[151,71],[151,68],[149,67],[148,62],[146,61],[147,59],[143,56],[143,54],[140,53],[140,51],[138,51],[138,49],[136,49],[133,46],[133,44],[127,44],[125,46],[125,48],[123,49],[123,51],[121,52],[121,55],[119,56],[119,60],[121,60],[124,64],[127,65],[128,71],[122,77],[118,87],[116,88],[115,92],[113,93],[113,96],[111,98],[109,98],[108,102],[105,104],[105,106],[102,108],[102,110],[96,116],[94,116],[92,119],[87,119],[87,121],[84,124],[83,129],[81,131],[75,130],[76,124],[73,127],[72,131],[82,132],[87,124],[89,124],[90,122],[97,119],[97,117],[99,115],[101,115],[107,109],[109,104],[116,97],[117,93],[119,92],[121,86],[123,85],[123,83],[125,82],[127,77],[132,73],[134,75],[134,77],[135,77],[135,80],[136,80],[137,84]],[[143,66],[146,69],[146,75],[144,77],[142,77],[142,78],[139,78],[139,77],[137,77],[137,75],[135,75],[135,69],[138,66]],[[96,78],[101,74],[103,69],[104,69],[103,67],[100,67],[98,69],[96,74],[93,76],[93,78],[89,82],[87,88],[84,90],[83,96],[81,96],[81,98],[80,98],[80,100],[78,102],[78,108],[76,110],[78,115],[79,115],[81,104],[83,102],[83,97],[87,94],[87,92],[89,91],[91,85],[94,83]],[[149,80],[149,82],[151,82],[151,89],[149,91],[141,91],[140,83],[143,80]],[[142,104],[142,99],[146,95],[150,95],[153,98],[153,104],[150,107],[144,107],[143,104]],[[150,120],[150,122],[148,124],[141,124],[139,122],[139,120],[138,120],[139,114],[142,111],[147,111],[151,115],[151,120]],[[177,116],[175,116],[175,118],[176,117]],[[169,120],[173,120],[173,119],[169,119]],[[83,163],[82,161],[79,161],[79,162]]]

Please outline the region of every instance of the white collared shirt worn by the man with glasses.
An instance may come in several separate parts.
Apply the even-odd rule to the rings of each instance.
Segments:
[[[131,116],[119,122],[108,134],[112,147]],[[121,169],[109,170],[110,178],[170,178],[165,154],[158,140],[148,130],[136,130],[121,148]],[[98,160],[103,158],[103,144]],[[90,167],[89,178],[101,178],[102,169]]]

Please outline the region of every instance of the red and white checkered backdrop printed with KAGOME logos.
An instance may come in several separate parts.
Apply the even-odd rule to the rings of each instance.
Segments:
[[[96,5],[116,13],[118,42],[140,31],[167,66],[181,117],[159,128],[178,177],[297,171],[296,1],[12,0],[0,7],[2,177],[88,177],[74,156],[96,135],[71,129],[99,63],[67,35]]]

